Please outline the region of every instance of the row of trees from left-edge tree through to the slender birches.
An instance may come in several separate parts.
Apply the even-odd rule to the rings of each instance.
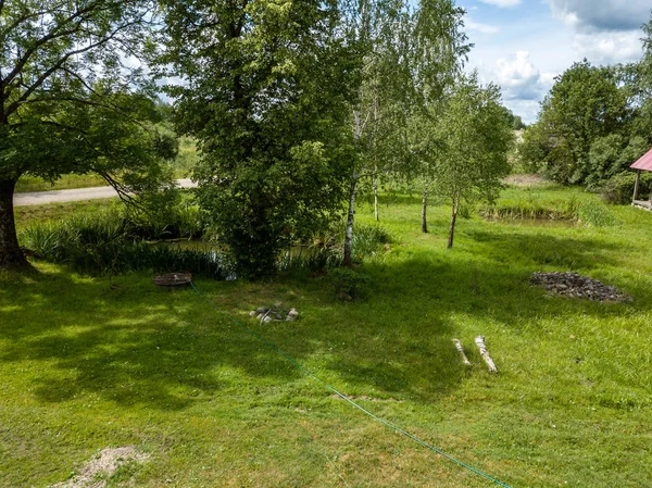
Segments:
[[[26,263],[13,222],[22,175],[95,172],[146,204],[171,185],[156,96],[197,140],[192,177],[242,277],[355,201],[405,178],[451,207],[493,199],[514,117],[464,74],[452,0],[0,0],[0,266]],[[139,196],[134,197],[134,195]],[[376,212],[378,212],[376,210]]]

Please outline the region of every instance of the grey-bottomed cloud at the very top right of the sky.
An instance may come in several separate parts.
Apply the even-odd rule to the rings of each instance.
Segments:
[[[650,18],[650,0],[548,0],[553,14],[579,32],[635,30]]]

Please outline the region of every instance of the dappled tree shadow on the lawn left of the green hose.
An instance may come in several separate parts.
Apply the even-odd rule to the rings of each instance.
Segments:
[[[202,310],[190,290],[118,280],[117,289],[65,273],[14,281],[20,289],[0,293],[0,362],[38,370],[26,379],[43,402],[97,393],[161,410],[233,387],[216,371],[223,365],[276,380],[296,377],[280,356],[256,361],[255,339]]]

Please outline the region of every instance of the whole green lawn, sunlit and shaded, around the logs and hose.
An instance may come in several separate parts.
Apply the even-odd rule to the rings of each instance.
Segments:
[[[555,187],[503,203],[570,198],[597,205]],[[365,301],[297,273],[197,286],[364,408],[510,486],[652,486],[652,213],[599,209],[602,226],[461,220],[448,251],[448,209],[423,235],[419,199],[398,197],[380,209],[390,249],[359,268]],[[149,460],[110,487],[496,486],[331,398],[190,289],[36,266],[0,275],[2,487],[64,481],[123,446]],[[535,271],[577,271],[635,301],[552,297],[529,286]],[[300,320],[248,317],[277,301]]]

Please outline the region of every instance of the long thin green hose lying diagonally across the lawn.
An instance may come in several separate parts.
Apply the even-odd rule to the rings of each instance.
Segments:
[[[290,363],[292,363],[294,366],[297,366],[297,368],[299,368],[300,371],[302,371],[306,376],[313,378],[315,381],[319,383],[322,386],[324,386],[326,389],[328,389],[329,391],[334,392],[335,395],[337,395],[339,398],[341,398],[342,400],[349,402],[351,405],[355,406],[358,410],[364,412],[366,415],[368,415],[369,417],[374,418],[375,421],[379,422],[380,424],[385,425],[386,427],[391,428],[392,430],[402,434],[403,436],[414,440],[415,442],[419,443],[421,446],[423,446],[426,449],[429,449],[432,452],[436,452],[439,455],[442,455],[443,458],[456,463],[457,465],[475,473],[476,475],[482,476],[486,479],[489,479],[490,481],[502,486],[504,488],[511,488],[510,485],[506,485],[498,479],[496,479],[492,476],[489,476],[486,473],[482,473],[480,470],[477,470],[455,458],[453,458],[450,454],[447,454],[446,452],[443,452],[441,449],[436,448],[435,446],[429,445],[428,442],[419,439],[418,437],[403,430],[402,428],[396,426],[394,424],[392,424],[391,422],[388,422],[381,417],[379,417],[378,415],[369,412],[368,410],[366,410],[364,406],[355,403],[353,400],[351,400],[350,398],[348,398],[346,395],[339,392],[337,389],[335,389],[334,387],[331,387],[330,385],[328,385],[326,381],[324,381],[323,379],[321,379],[319,377],[317,377],[312,371],[310,371],[309,368],[306,368],[305,366],[301,365],[299,362],[297,362],[294,359],[290,358],[289,355],[287,355],[285,352],[283,352],[280,349],[278,349],[278,347],[273,343],[269,342],[267,339],[265,339],[264,337],[260,336],[259,334],[256,334],[255,331],[253,331],[252,329],[250,329],[249,327],[247,327],[244,324],[242,324],[241,322],[237,321],[236,318],[234,318],[231,315],[229,315],[228,313],[224,312],[223,310],[221,310],[215,303],[213,303],[211,300],[209,300],[201,291],[199,291],[197,289],[197,287],[195,286],[193,281],[190,281],[190,286],[192,287],[192,289],[197,292],[197,295],[199,295],[201,298],[203,298],[213,309],[215,309],[217,312],[220,312],[221,314],[223,314],[224,316],[226,316],[229,321],[231,321],[233,323],[235,323],[236,325],[238,325],[239,327],[241,327],[246,333],[248,333],[249,335],[253,336],[255,339],[258,339],[260,342],[262,342],[263,345],[267,346],[269,349],[272,349],[273,351],[275,351],[276,353],[278,353],[279,355],[281,355],[283,358],[285,358],[287,361],[289,361]]]

